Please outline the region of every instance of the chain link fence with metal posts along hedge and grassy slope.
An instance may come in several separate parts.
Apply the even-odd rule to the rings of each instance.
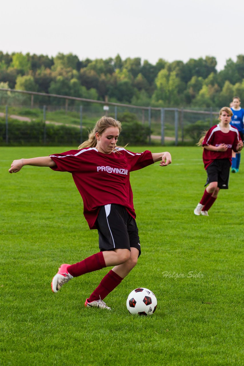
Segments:
[[[133,133],[147,131],[147,145],[194,145],[217,123],[218,109],[139,107],[0,89],[0,145],[79,145],[103,115],[119,119],[122,127],[134,124]]]

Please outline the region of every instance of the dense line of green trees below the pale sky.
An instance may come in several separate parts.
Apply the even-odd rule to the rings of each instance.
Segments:
[[[140,57],[85,59],[0,51],[0,87],[151,107],[221,107],[244,99],[244,55],[216,70],[213,56],[155,65]],[[38,99],[41,102],[41,97]],[[56,99],[56,104],[63,101]],[[75,102],[74,102],[75,103]]]

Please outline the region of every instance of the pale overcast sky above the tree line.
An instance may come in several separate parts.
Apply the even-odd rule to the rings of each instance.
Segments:
[[[220,71],[244,54],[243,13],[243,0],[3,1],[0,51],[80,60],[119,54],[154,65],[214,56]]]

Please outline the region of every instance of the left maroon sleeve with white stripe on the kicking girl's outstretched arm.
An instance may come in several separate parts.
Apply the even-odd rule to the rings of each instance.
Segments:
[[[59,172],[77,172],[81,170],[81,160],[77,153],[80,150],[70,150],[61,154],[49,155],[55,162],[55,166],[51,169]]]

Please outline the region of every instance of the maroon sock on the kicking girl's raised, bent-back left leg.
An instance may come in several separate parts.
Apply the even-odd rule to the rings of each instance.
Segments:
[[[67,267],[67,271],[71,276],[78,277],[88,272],[97,271],[98,269],[102,269],[104,267],[106,267],[104,255],[102,252],[99,252],[91,255],[81,262],[71,264],[71,266]]]

